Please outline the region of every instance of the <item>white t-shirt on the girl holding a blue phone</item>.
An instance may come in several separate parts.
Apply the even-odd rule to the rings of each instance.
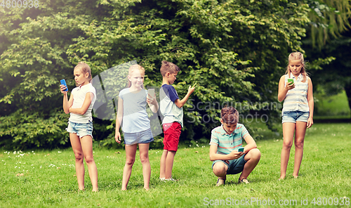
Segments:
[[[69,117],[69,122],[81,123],[81,124],[88,123],[89,121],[93,122],[93,117],[91,116],[91,110],[93,109],[93,105],[96,100],[96,91],[93,85],[89,83],[84,86],[77,86],[76,88],[72,89],[71,93],[73,96],[72,108],[81,108],[86,98],[86,93],[93,93],[94,97],[93,97],[93,100],[91,100],[91,103],[89,105],[88,110],[86,110],[86,113],[84,113],[84,115],[79,115],[71,112]]]

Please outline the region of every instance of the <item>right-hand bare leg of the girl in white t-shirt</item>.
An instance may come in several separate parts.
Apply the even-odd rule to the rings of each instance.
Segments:
[[[91,136],[83,136],[81,138],[81,149],[84,153],[86,165],[88,166],[88,173],[93,185],[93,191],[98,191],[98,169],[93,157],[93,138]]]

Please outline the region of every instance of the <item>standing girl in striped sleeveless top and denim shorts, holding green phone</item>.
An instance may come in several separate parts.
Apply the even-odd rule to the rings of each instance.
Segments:
[[[289,82],[288,82],[289,79]],[[291,79],[293,82],[291,82]],[[286,167],[293,141],[295,143],[295,161],[293,177],[298,177],[300,164],[303,160],[303,141],[305,140],[306,128],[313,124],[313,91],[312,81],[307,76],[303,54],[300,52],[290,53],[289,65],[286,74],[279,80],[278,100],[284,100],[282,110],[283,125],[283,148],[280,160],[280,179],[286,176]],[[295,140],[293,135],[295,133]]]

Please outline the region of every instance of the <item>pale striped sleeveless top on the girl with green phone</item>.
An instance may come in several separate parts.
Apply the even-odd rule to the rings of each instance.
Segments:
[[[286,93],[283,104],[283,112],[288,111],[302,111],[302,112],[310,112],[310,108],[308,107],[307,101],[307,92],[308,92],[308,81],[306,79],[303,82],[303,74],[298,75],[298,79],[296,79],[293,75],[290,76],[293,79],[293,83],[295,84],[295,88],[291,89]],[[288,74],[285,75],[285,84],[288,83]],[[291,79],[290,78],[290,79]]]

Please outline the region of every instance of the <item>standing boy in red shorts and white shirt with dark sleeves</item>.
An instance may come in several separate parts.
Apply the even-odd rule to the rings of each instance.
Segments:
[[[166,60],[162,61],[160,72],[162,86],[159,90],[162,126],[164,129],[164,152],[162,152],[159,178],[161,181],[176,181],[172,178],[174,156],[178,150],[180,131],[183,128],[183,105],[194,92],[189,86],[187,95],[180,100],[176,89],[171,85],[176,81],[179,67]]]

